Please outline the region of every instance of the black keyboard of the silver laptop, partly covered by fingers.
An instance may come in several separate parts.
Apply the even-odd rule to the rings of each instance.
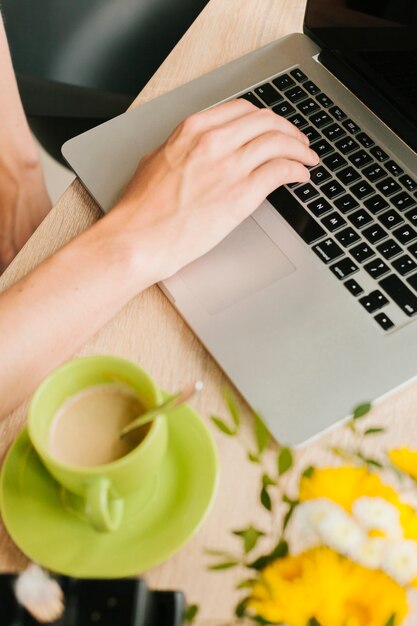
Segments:
[[[416,180],[300,68],[240,97],[287,118],[321,158],[310,182],[276,189],[271,204],[383,331],[415,316]]]

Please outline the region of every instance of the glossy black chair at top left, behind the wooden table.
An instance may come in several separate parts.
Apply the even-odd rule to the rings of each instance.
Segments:
[[[64,141],[123,113],[208,0],[3,0],[30,125]]]

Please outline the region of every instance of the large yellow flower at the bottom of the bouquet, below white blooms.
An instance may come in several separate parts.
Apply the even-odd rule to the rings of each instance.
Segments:
[[[307,626],[385,626],[408,607],[405,590],[329,548],[314,548],[268,565],[253,588],[248,609],[271,623]]]

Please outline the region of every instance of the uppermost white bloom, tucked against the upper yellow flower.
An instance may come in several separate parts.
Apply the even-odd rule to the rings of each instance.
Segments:
[[[383,498],[358,498],[353,504],[352,514],[367,530],[380,530],[393,539],[403,537],[398,509]]]

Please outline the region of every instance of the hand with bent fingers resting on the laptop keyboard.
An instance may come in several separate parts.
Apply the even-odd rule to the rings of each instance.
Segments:
[[[226,102],[192,115],[146,155],[109,218],[119,216],[159,281],[208,252],[274,189],[309,180],[306,166],[318,162],[284,118]]]

